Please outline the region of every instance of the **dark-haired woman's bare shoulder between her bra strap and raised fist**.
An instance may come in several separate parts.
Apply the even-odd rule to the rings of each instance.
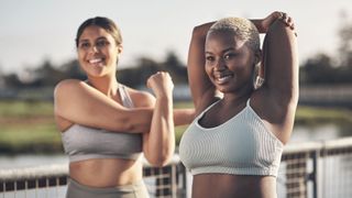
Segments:
[[[135,107],[142,108],[142,107],[154,107],[155,105],[155,97],[144,90],[138,90],[130,87],[127,87],[127,90],[130,94],[130,97],[134,103]]]

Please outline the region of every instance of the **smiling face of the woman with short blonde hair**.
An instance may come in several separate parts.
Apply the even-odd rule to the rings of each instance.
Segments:
[[[231,31],[207,35],[206,73],[221,92],[253,90],[256,54]]]

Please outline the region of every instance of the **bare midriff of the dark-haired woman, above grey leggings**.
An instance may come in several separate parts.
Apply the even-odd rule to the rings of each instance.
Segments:
[[[142,180],[142,163],[121,158],[99,158],[69,164],[69,177],[89,187],[116,187]]]

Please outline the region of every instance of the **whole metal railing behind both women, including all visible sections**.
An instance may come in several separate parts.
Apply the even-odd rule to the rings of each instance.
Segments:
[[[67,173],[67,165],[0,170],[0,198],[64,197]],[[151,197],[186,197],[187,174],[177,155],[143,169]],[[277,189],[279,198],[352,197],[352,138],[286,145]]]

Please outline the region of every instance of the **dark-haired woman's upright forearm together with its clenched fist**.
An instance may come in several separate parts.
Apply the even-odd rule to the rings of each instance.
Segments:
[[[163,166],[175,151],[175,128],[173,119],[174,84],[167,73],[160,72],[147,80],[147,87],[156,96],[151,132],[143,135],[143,153],[155,166]]]

